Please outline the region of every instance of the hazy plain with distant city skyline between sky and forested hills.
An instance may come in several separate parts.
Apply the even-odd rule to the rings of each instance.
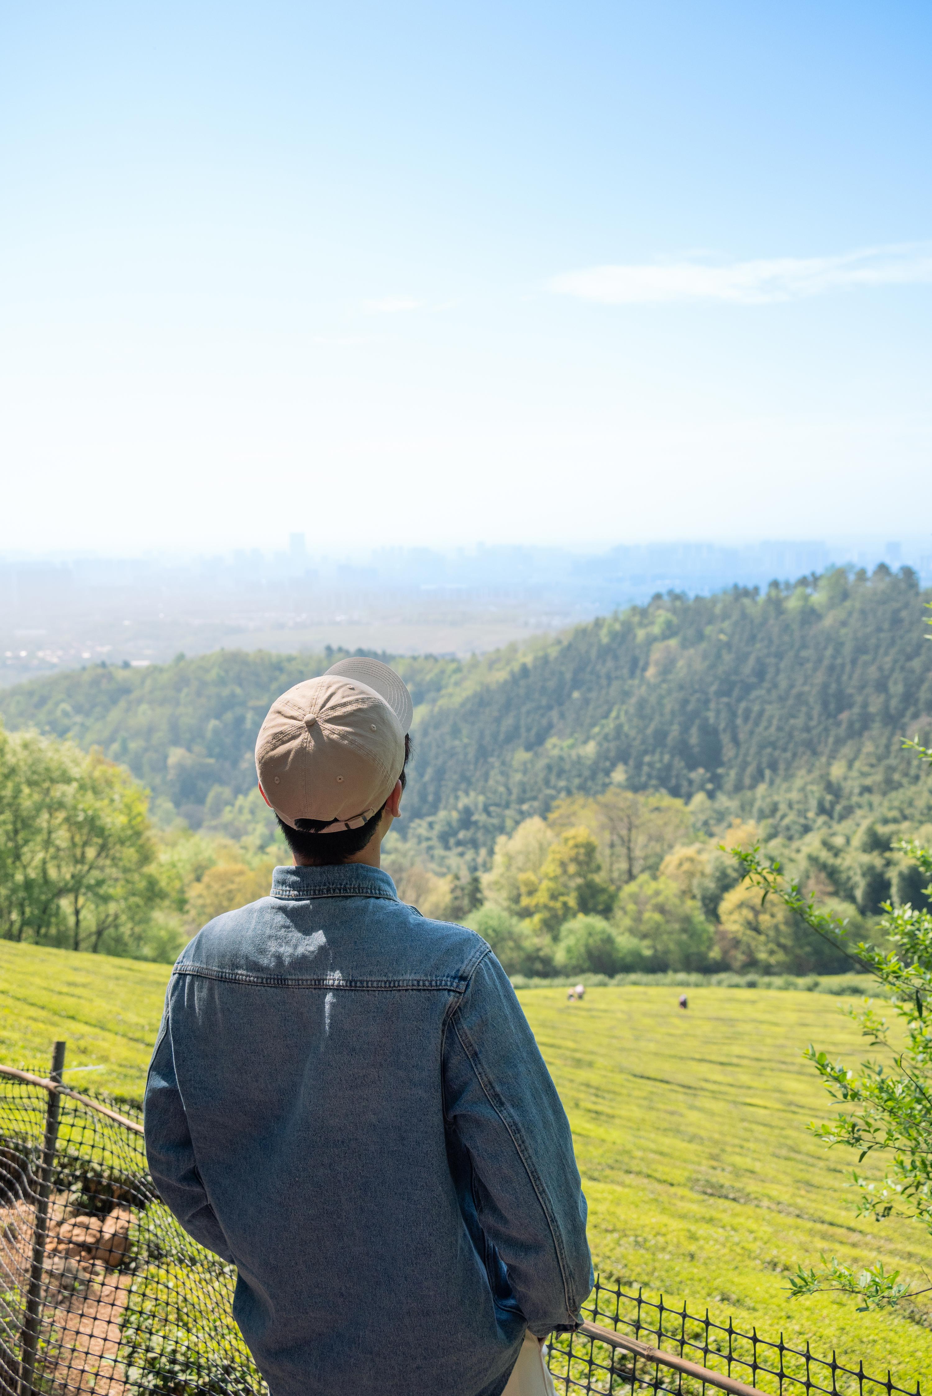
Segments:
[[[792,584],[833,565],[912,567],[932,539],[385,547],[325,557],[301,532],[223,554],[0,554],[0,685],[87,663],[146,666],[220,648],[466,656],[553,634],[657,592]]]

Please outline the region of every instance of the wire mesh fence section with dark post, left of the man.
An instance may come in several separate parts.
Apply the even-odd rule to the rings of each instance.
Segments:
[[[140,1113],[123,1121],[0,1078],[0,1392],[265,1393],[236,1270],[158,1199]]]

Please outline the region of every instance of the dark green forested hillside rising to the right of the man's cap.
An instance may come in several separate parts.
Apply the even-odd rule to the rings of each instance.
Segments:
[[[932,726],[931,600],[908,570],[839,570],[763,596],[654,597],[579,627],[431,712],[409,808],[434,817],[441,845],[476,846],[508,811],[599,793],[618,765],[631,789],[686,800],[841,758],[908,779],[900,738]]]

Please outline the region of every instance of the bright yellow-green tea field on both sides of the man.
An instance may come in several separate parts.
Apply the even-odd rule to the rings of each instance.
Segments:
[[[0,1060],[45,1065],[68,1040],[75,1087],[138,1099],[167,967],[0,942]],[[809,1041],[859,1053],[844,1001],[805,993],[557,988],[520,1000],[569,1114],[589,1198],[596,1269],[664,1300],[734,1315],[762,1336],[886,1375],[932,1374],[932,1316],[857,1314],[840,1295],[791,1301],[788,1270],[822,1251],[922,1279],[928,1237],[857,1220],[851,1159],[805,1129],[826,1114]]]

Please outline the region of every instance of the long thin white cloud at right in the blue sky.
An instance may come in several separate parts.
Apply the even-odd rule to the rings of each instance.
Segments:
[[[865,247],[837,257],[773,257],[714,265],[707,261],[587,267],[554,276],[550,289],[606,306],[721,300],[762,306],[820,296],[841,286],[932,283],[932,243]]]

